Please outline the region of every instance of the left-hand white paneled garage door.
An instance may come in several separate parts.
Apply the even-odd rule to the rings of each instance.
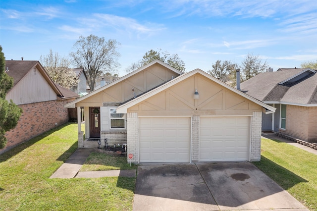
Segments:
[[[189,162],[189,117],[140,117],[140,162]]]

